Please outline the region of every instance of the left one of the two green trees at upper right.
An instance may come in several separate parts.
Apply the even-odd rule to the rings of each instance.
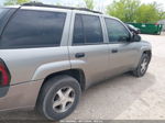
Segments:
[[[114,0],[110,5],[107,7],[107,13],[119,18],[123,22],[133,22],[135,21],[139,7],[139,0]]]

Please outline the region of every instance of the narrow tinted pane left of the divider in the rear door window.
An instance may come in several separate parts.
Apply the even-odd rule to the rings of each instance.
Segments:
[[[75,27],[74,27],[74,44],[85,43],[84,27],[81,15],[76,15]]]

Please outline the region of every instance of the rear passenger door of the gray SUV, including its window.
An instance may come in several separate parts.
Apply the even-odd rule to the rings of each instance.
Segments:
[[[106,79],[109,46],[105,43],[100,15],[74,13],[70,37],[72,68],[82,69],[87,87]]]

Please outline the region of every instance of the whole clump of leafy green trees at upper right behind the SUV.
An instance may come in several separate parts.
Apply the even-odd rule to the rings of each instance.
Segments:
[[[165,11],[161,4],[141,4],[140,0],[114,0],[107,7],[107,13],[123,22],[156,23],[165,19]]]

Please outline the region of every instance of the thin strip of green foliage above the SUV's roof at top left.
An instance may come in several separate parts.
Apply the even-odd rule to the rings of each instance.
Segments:
[[[6,0],[4,5],[16,5],[25,2],[30,2],[31,0]]]

